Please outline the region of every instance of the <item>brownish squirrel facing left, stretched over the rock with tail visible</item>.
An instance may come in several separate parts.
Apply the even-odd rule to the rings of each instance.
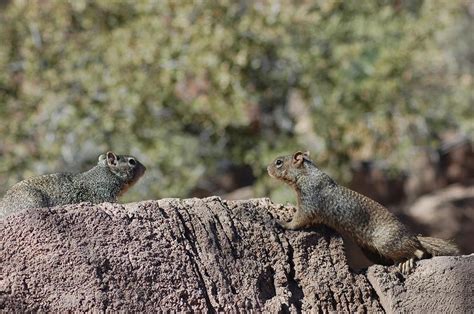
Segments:
[[[267,171],[292,186],[298,197],[293,219],[281,223],[285,229],[325,224],[351,237],[372,262],[399,263],[404,273],[413,268],[415,258],[459,254],[454,244],[412,234],[388,209],[337,184],[315,166],[308,152],[278,157]]]

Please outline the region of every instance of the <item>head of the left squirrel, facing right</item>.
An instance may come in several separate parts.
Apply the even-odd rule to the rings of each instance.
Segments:
[[[128,155],[116,155],[107,152],[99,156],[99,166],[107,167],[110,172],[120,178],[123,183],[120,195],[125,193],[129,187],[134,185],[145,173],[143,166],[135,157]]]

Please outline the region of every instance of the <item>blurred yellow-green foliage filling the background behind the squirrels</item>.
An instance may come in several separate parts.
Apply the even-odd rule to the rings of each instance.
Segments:
[[[185,197],[223,162],[309,149],[409,162],[472,137],[469,1],[11,1],[0,11],[0,189],[106,151],[148,168],[128,199]],[[280,186],[280,185],[278,185]]]

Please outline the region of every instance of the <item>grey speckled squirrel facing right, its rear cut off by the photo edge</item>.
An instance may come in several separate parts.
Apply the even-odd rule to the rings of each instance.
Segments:
[[[116,202],[145,173],[134,157],[107,152],[82,173],[55,173],[13,185],[0,202],[0,218],[26,208],[91,202]]]

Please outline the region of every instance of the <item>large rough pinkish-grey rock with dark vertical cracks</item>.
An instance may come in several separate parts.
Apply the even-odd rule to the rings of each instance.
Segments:
[[[382,309],[339,236],[284,232],[278,212],[216,197],[27,210],[0,221],[0,309]]]

